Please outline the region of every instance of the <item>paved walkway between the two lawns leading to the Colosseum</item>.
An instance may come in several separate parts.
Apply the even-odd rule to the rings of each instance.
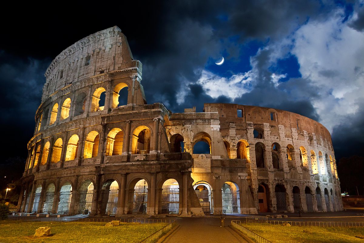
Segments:
[[[246,242],[229,226],[220,227],[220,218],[178,218],[177,222],[180,226],[163,243]]]

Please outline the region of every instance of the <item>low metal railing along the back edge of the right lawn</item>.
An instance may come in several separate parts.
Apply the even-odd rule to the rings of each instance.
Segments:
[[[291,226],[317,226],[317,227],[364,227],[364,222],[300,222],[300,221],[280,221],[269,220],[266,223],[273,225],[281,225],[283,223],[289,223]]]

